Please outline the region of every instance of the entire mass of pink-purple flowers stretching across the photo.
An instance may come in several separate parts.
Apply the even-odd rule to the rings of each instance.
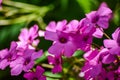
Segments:
[[[43,53],[42,50],[36,51],[40,42],[37,37],[43,36],[53,42],[47,56],[49,64],[53,65],[53,73],[62,71],[63,56],[70,58],[75,51],[82,50],[85,64],[78,74],[80,77],[85,80],[120,80],[120,28],[113,32],[112,38],[107,36],[103,46],[98,48],[93,44],[94,38],[103,37],[111,18],[112,10],[103,2],[98,10],[86,14],[80,21],[51,21],[46,31],[38,31],[37,25],[29,30],[22,29],[19,41],[11,42],[10,49],[0,51],[0,69],[10,66],[11,75],[17,76],[24,71],[24,78],[28,80],[46,80],[42,67],[36,66],[33,70],[35,60]]]

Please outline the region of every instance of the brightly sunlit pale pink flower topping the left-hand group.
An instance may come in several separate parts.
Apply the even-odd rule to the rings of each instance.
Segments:
[[[39,43],[39,40],[36,39],[38,37],[38,26],[34,25],[29,30],[24,28],[21,30],[19,35],[18,46],[19,47],[29,47],[30,49],[34,49]]]

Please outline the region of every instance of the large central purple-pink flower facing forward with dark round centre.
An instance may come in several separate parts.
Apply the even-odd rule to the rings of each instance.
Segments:
[[[80,46],[79,38],[80,36],[71,35],[61,31],[45,32],[45,39],[54,41],[48,52],[55,56],[64,55],[71,57],[78,49],[78,46]]]

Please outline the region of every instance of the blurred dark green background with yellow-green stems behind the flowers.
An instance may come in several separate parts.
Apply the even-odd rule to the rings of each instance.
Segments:
[[[113,11],[113,19],[105,31],[110,36],[120,27],[120,0],[3,0],[0,9],[0,49],[8,48],[11,41],[17,41],[21,28],[38,24],[44,30],[50,21],[81,20],[86,13],[97,10],[101,2],[106,2]],[[46,51],[51,43],[40,39],[39,47]],[[102,40],[94,41],[102,45]],[[0,80],[3,78],[23,80],[21,77],[11,77],[9,68],[0,71]]]

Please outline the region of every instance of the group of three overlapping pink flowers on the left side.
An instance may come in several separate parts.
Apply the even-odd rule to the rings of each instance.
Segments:
[[[39,43],[39,40],[36,39],[37,37],[37,25],[34,25],[29,30],[26,28],[22,29],[18,37],[19,41],[12,41],[10,49],[0,51],[0,69],[4,70],[9,66],[12,76],[17,76],[21,74],[22,71],[31,71],[35,65],[35,60],[41,57],[43,53],[42,50],[35,50],[35,47]],[[42,69],[41,67],[38,67],[38,69],[39,68],[40,70]]]

